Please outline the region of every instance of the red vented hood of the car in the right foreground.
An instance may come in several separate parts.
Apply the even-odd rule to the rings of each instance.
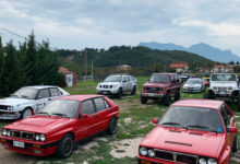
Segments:
[[[192,130],[177,131],[173,128],[156,127],[141,142],[141,145],[216,157],[223,138],[223,133],[203,133]]]

